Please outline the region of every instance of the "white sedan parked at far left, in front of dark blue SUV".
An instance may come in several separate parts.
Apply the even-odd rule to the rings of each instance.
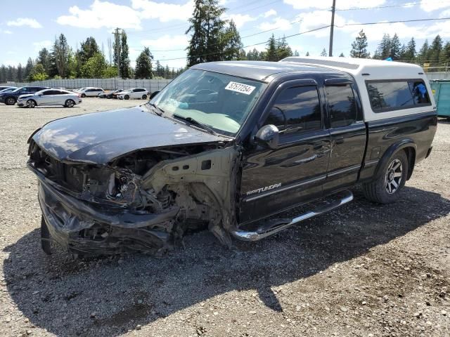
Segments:
[[[82,103],[79,94],[60,89],[45,89],[30,95],[20,95],[17,100],[19,107],[37,107],[39,105],[73,107],[79,103]]]

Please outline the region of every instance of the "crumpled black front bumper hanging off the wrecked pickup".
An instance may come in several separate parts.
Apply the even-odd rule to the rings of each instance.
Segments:
[[[122,251],[158,253],[171,249],[178,209],[162,213],[129,213],[94,207],[39,179],[39,204],[51,239],[71,253],[110,255]],[[167,230],[163,230],[166,228]]]

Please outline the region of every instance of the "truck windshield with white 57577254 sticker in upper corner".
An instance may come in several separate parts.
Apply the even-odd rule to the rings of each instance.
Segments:
[[[218,133],[238,132],[266,84],[226,74],[187,70],[150,101],[169,117],[194,119]]]

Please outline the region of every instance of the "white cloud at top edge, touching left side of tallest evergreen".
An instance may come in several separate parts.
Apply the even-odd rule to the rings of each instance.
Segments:
[[[193,0],[188,0],[186,4],[166,4],[165,2],[150,0],[131,0],[131,7],[139,11],[141,18],[159,19],[160,22],[188,20],[192,15],[193,5]]]

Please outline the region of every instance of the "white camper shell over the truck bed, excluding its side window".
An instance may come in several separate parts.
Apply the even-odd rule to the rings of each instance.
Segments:
[[[436,111],[435,98],[432,95],[430,82],[425,72],[418,65],[411,65],[404,62],[393,62],[383,60],[372,60],[367,58],[335,58],[335,57],[289,57],[280,62],[302,63],[304,65],[315,65],[327,67],[334,70],[347,72],[356,81],[361,96],[361,104],[364,110],[364,121],[378,121],[392,117],[402,117],[410,114],[420,114],[423,112]],[[396,109],[384,109],[383,111],[374,111],[371,106],[371,100],[368,95],[368,84],[417,80],[423,81],[428,92],[428,104],[414,105]]]

